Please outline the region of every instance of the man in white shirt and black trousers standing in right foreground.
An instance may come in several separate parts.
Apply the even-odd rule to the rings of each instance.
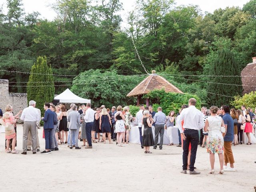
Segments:
[[[188,100],[188,106],[188,108],[182,110],[177,122],[180,134],[182,135],[183,138],[182,173],[187,173],[188,147],[189,144],[191,143],[189,174],[200,174],[200,172],[196,172],[194,170],[194,164],[196,161],[196,151],[199,139],[198,130],[204,128],[204,118],[202,112],[200,112],[200,110],[198,110],[195,107],[196,99],[190,98],[190,100]],[[184,132],[181,126],[182,120],[184,120]]]

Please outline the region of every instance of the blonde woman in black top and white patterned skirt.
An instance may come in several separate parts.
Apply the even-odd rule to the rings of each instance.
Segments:
[[[124,115],[122,114],[122,106],[118,106],[116,108],[117,112],[115,114],[115,121],[116,121],[116,129],[115,132],[117,133],[116,139],[117,142],[116,144],[118,144],[118,146],[123,147],[122,145],[122,138],[123,138],[123,134],[125,131],[124,128]]]

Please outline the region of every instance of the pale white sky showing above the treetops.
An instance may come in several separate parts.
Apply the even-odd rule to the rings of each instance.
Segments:
[[[95,0],[92,0],[92,2]],[[134,9],[136,0],[120,0],[123,3],[124,10],[120,12],[125,25],[128,12]],[[54,3],[55,0],[23,0],[24,9],[26,13],[38,11],[41,14],[41,18],[53,20],[56,17],[54,10],[50,8],[50,4]],[[239,6],[242,7],[249,0],[175,0],[176,5],[198,5],[202,12],[214,12],[218,8],[226,8],[227,6]],[[5,4],[6,0],[0,0],[0,5]],[[3,8],[6,13],[6,8]]]

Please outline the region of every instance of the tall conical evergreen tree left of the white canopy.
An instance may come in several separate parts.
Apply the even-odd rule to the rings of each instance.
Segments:
[[[54,99],[54,78],[51,66],[47,65],[46,56],[39,56],[31,68],[27,84],[28,102],[34,100],[37,108],[44,115],[44,103],[52,102]]]

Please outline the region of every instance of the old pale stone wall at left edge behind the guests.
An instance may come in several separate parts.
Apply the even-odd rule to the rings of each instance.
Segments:
[[[28,106],[26,93],[9,93],[9,81],[0,79],[0,108],[5,112],[7,104],[13,106],[14,114]]]

